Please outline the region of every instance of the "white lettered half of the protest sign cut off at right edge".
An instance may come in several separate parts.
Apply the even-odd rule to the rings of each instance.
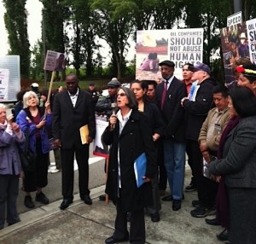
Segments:
[[[250,60],[256,64],[256,19],[247,20],[246,22]]]

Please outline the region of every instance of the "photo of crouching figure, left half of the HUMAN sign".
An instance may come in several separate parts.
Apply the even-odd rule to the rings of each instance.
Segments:
[[[137,31],[136,78],[161,78],[160,61],[168,58],[168,30]]]

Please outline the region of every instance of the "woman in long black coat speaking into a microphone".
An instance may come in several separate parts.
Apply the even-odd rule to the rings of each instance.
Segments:
[[[105,242],[119,241],[145,243],[143,208],[152,204],[150,178],[156,172],[156,151],[148,119],[137,110],[133,92],[122,87],[117,93],[119,111],[109,119],[103,141],[111,145],[106,193],[117,208],[115,230]],[[137,187],[134,162],[145,153],[147,158],[143,185]],[[130,235],[127,230],[127,212],[131,212]]]

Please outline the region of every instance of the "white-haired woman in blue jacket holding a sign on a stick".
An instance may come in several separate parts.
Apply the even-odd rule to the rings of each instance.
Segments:
[[[49,162],[49,137],[46,127],[51,126],[51,110],[49,102],[45,107],[39,107],[38,96],[32,90],[27,91],[23,96],[23,109],[17,116],[17,123],[21,131],[29,130],[29,147],[37,154],[35,171],[26,171],[24,179],[24,190],[26,192],[24,205],[33,208],[31,192],[37,191],[36,201],[48,204],[49,199],[42,192],[47,183],[48,162]]]

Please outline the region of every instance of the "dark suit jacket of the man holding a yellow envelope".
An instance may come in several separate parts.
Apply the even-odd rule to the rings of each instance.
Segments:
[[[96,134],[94,106],[91,104],[90,93],[79,89],[75,107],[67,90],[55,95],[53,106],[53,137],[61,139],[61,148],[84,148],[79,128],[88,125],[89,136]]]

